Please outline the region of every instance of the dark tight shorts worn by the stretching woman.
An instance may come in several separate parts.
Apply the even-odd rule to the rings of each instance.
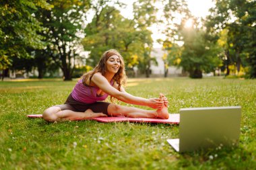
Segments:
[[[94,113],[102,112],[103,114],[108,114],[109,104],[110,103],[104,101],[96,101],[95,103],[83,103],[73,99],[72,95],[70,94],[64,104],[54,106],[61,108],[61,110],[72,110],[73,112],[85,112],[86,110],[90,109]]]

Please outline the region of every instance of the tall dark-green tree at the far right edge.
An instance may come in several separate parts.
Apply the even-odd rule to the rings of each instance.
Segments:
[[[216,1],[211,15],[207,17],[210,32],[228,30],[230,47],[234,50],[237,71],[240,65],[249,67],[249,77],[256,77],[256,1]],[[229,51],[228,51],[229,52]],[[228,73],[228,71],[227,71]]]

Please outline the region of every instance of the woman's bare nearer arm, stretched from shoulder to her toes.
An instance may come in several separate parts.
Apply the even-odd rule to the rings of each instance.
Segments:
[[[102,91],[105,93],[108,93],[108,95],[112,95],[113,97],[116,97],[117,99],[130,104],[135,105],[147,105],[150,108],[154,109],[160,109],[164,107],[164,101],[160,101],[158,98],[154,99],[145,99],[143,97],[136,97],[133,95],[130,95],[129,93],[125,92],[125,90],[122,88],[121,91],[115,89],[115,87],[112,87],[108,80],[102,76],[100,73],[96,73],[92,77],[92,81],[95,85],[97,85]]]

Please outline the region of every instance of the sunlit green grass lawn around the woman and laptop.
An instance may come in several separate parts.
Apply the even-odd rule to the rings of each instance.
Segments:
[[[166,142],[178,138],[171,124],[104,124],[26,118],[63,103],[76,81],[0,83],[0,169],[255,169],[256,80],[130,79],[127,91],[168,97],[180,108],[241,105],[241,137],[234,148],[176,153]],[[122,103],[124,104],[124,103]],[[140,107],[143,108],[143,107]],[[148,109],[148,108],[147,108]],[[212,159],[211,159],[212,158]]]

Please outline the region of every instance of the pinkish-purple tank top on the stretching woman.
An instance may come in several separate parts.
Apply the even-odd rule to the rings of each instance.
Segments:
[[[73,91],[71,92],[73,99],[75,99],[76,101],[80,101],[83,103],[94,103],[96,101],[103,101],[106,99],[106,97],[108,97],[107,93],[104,93],[104,95],[100,96],[97,95],[97,91],[100,88],[84,85],[82,83],[82,80],[83,79],[79,79],[79,81],[73,88]],[[113,80],[110,81],[110,84],[113,86]]]

